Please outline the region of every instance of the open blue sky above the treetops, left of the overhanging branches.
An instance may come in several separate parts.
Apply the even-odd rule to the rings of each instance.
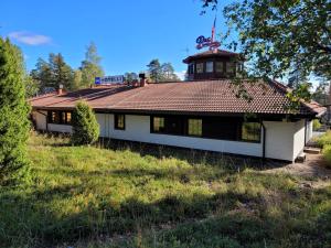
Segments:
[[[197,52],[196,37],[211,35],[216,13],[201,11],[200,0],[1,0],[0,35],[21,47],[29,71],[50,53],[77,68],[94,42],[106,75],[139,73],[153,58],[181,74],[182,60]],[[225,30],[218,11],[216,33]]]

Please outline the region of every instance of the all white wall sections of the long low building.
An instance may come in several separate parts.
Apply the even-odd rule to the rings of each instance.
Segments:
[[[40,114],[39,114],[40,115]],[[38,116],[38,127],[45,130],[45,117]],[[243,155],[263,157],[260,143],[204,139],[150,132],[150,117],[126,115],[126,129],[114,129],[114,115],[96,114],[100,137],[210,150]],[[264,121],[266,127],[266,158],[293,161],[305,147],[305,120],[297,122]],[[71,126],[49,125],[50,131],[72,132]]]

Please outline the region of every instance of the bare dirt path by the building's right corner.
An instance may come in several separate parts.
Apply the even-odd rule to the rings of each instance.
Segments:
[[[303,177],[303,187],[321,188],[331,185],[331,170],[325,168],[321,154],[307,154],[303,163],[289,163],[282,168],[269,169],[263,173],[288,173]]]

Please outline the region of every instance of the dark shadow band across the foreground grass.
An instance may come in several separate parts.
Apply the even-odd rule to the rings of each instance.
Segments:
[[[150,203],[138,196],[120,203],[103,198],[98,204],[87,202],[75,213],[49,204],[54,200],[67,201],[79,191],[76,185],[24,194],[2,191],[1,244],[51,247],[100,236],[125,235],[129,239],[140,230],[147,231],[146,242],[157,239],[164,247],[174,244],[182,244],[179,247],[324,247],[331,237],[330,209],[313,218],[302,207],[273,215],[264,197],[233,192],[190,197],[168,195]],[[330,196],[324,190],[313,194]],[[157,231],[154,237],[150,237],[151,229]]]

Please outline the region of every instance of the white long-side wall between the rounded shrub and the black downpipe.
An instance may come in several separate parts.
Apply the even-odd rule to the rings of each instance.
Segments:
[[[150,133],[150,117],[126,115],[126,129],[114,129],[114,115],[97,114],[100,136],[157,144],[261,157],[261,143]]]

